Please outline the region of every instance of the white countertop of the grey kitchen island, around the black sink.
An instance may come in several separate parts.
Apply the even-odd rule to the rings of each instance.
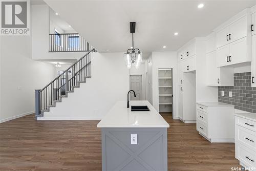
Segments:
[[[169,127],[169,124],[148,101],[117,101],[112,109],[101,119],[97,127]],[[131,112],[132,105],[147,105],[148,112]]]

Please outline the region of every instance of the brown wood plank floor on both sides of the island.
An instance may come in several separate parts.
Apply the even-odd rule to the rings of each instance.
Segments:
[[[195,123],[162,114],[168,129],[168,170],[239,167],[234,144],[210,143]],[[101,170],[98,121],[36,121],[28,115],[0,124],[0,170]]]

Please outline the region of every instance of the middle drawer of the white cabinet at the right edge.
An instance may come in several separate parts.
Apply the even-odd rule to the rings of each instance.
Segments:
[[[256,132],[236,125],[236,142],[239,142],[256,152]]]

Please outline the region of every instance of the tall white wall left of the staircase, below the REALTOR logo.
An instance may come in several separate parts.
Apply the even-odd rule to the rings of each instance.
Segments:
[[[1,36],[0,122],[35,111],[35,89],[45,86],[54,76],[54,66],[34,61],[31,36]]]

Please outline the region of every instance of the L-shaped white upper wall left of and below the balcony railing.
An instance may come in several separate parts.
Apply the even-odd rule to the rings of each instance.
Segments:
[[[78,59],[86,52],[49,53],[49,7],[32,5],[32,58],[33,59]]]

